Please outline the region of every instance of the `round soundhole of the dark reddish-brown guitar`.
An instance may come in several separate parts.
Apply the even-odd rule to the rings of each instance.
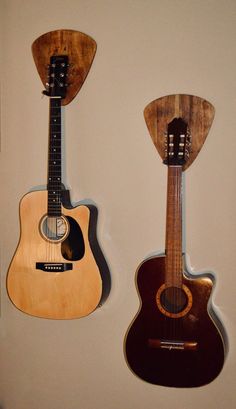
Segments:
[[[182,288],[168,287],[162,292],[160,301],[167,312],[178,314],[186,308],[188,298]]]

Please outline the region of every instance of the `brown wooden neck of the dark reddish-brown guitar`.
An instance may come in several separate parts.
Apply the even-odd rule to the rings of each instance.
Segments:
[[[166,284],[182,285],[182,166],[168,166]]]

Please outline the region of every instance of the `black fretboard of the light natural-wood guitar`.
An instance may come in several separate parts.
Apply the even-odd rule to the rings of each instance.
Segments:
[[[61,215],[61,98],[50,98],[48,145],[48,215]]]

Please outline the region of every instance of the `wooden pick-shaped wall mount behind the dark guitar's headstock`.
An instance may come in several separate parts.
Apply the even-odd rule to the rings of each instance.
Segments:
[[[144,110],[144,118],[152,141],[164,160],[165,133],[167,125],[174,118],[182,118],[187,122],[192,136],[191,152],[183,166],[186,170],[196,159],[212,125],[215,109],[210,102],[194,95],[175,94],[158,98],[148,104]]]

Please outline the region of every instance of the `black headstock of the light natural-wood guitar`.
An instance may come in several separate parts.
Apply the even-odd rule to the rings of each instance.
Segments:
[[[48,81],[46,83],[47,90],[43,91],[49,97],[66,97],[67,91],[67,71],[68,71],[68,56],[53,55],[50,58],[48,66]]]

